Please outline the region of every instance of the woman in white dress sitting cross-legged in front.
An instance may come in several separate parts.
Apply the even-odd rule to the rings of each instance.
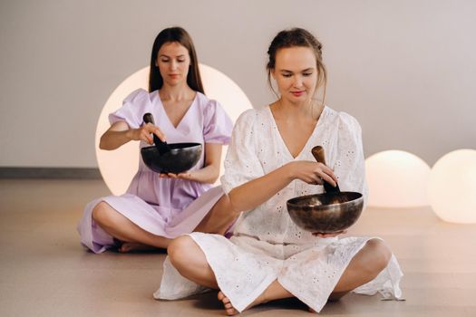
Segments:
[[[350,291],[401,296],[402,271],[378,237],[306,232],[287,214],[287,199],[323,192],[323,181],[366,197],[358,122],[316,101],[325,91],[321,43],[303,29],[282,31],[269,46],[268,78],[279,98],[237,121],[222,186],[240,213],[234,235],[192,233],[169,245],[156,298],[219,290],[228,315],[296,297],[319,312]],[[311,149],[321,145],[328,166]]]

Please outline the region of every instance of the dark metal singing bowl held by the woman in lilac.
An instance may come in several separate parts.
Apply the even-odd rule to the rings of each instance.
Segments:
[[[160,154],[155,145],[141,149],[145,165],[157,173],[178,174],[199,162],[202,146],[199,143],[169,143],[169,150]]]

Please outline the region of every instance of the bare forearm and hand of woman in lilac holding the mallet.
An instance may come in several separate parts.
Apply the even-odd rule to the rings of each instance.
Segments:
[[[131,129],[126,121],[117,121],[102,134],[99,149],[118,149],[131,140],[143,140],[152,144],[151,133],[155,133],[161,140],[165,140],[160,129],[151,123],[145,124],[139,129]]]

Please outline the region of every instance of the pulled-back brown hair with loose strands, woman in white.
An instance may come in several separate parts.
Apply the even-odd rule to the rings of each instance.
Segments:
[[[267,62],[267,82],[273,90],[271,85],[271,71],[276,67],[276,54],[282,48],[288,47],[308,47],[313,50],[316,55],[316,69],[317,69],[317,84],[316,88],[324,85],[324,97],[325,99],[325,83],[327,82],[327,72],[325,71],[325,65],[322,62],[322,44],[317,41],[316,37],[305,29],[298,27],[283,30],[279,32],[267,49],[268,62]],[[273,90],[274,91],[274,90]],[[276,93],[276,91],[275,91]]]

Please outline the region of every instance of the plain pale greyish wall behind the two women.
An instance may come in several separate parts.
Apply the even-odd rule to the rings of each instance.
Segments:
[[[432,165],[476,148],[475,16],[471,0],[4,0],[0,167],[96,167],[103,104],[171,25],[255,107],[272,101],[272,37],[309,29],[324,43],[326,101],[361,122],[366,156],[404,149]]]

